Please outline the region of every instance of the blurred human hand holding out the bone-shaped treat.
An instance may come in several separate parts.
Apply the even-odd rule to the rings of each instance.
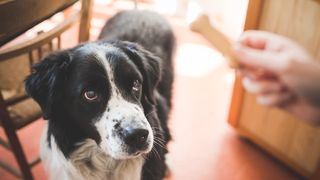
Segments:
[[[297,43],[263,31],[247,31],[234,47],[244,88],[257,102],[283,108],[320,124],[320,65]]]

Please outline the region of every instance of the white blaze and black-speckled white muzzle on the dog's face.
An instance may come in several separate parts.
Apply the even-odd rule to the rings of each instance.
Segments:
[[[136,128],[144,128],[149,131],[148,142],[150,144],[147,151],[150,151],[153,145],[153,133],[149,122],[144,116],[140,106],[124,99],[116,86],[114,78],[114,69],[110,65],[110,60],[106,58],[108,52],[123,53],[118,48],[111,45],[88,44],[81,47],[81,51],[96,57],[104,66],[110,84],[110,98],[102,117],[97,120],[95,126],[101,136],[100,146],[111,156],[125,158],[127,156],[127,147],[119,135],[114,134],[114,126],[120,123],[121,126],[130,125]]]

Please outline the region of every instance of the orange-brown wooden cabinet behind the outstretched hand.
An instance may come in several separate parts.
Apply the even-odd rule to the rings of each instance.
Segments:
[[[271,31],[294,39],[320,63],[319,1],[249,0],[245,29]],[[258,105],[254,95],[244,91],[239,77],[234,85],[229,123],[301,175],[315,177],[320,170],[320,127],[280,109]]]

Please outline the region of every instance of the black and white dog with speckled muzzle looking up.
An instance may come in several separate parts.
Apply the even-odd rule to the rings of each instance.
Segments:
[[[48,120],[41,158],[50,179],[163,179],[174,46],[160,15],[124,11],[99,41],[33,67],[25,85]]]

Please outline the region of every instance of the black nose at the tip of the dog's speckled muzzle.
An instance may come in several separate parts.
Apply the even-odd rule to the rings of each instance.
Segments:
[[[125,128],[124,141],[135,150],[146,148],[149,131],[147,129]]]

